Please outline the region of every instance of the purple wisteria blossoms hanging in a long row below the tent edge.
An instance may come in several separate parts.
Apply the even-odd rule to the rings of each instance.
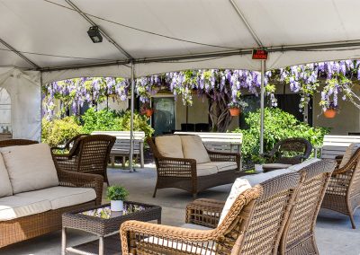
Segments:
[[[360,80],[360,61],[342,60],[315,64],[289,66],[266,72],[266,94],[272,105],[276,106],[275,84],[289,85],[292,92],[302,96],[302,109],[315,92],[320,92],[320,106],[326,110],[338,107],[338,98],[353,102],[360,109],[360,98],[352,90],[353,82]],[[320,86],[320,83],[323,86]],[[151,75],[136,81],[136,94],[142,102],[160,90],[169,90],[175,99],[181,98],[184,104],[191,105],[193,92],[212,101],[224,100],[228,95],[229,105],[241,106],[244,92],[260,93],[261,75],[247,70],[188,70],[171,72],[165,75]],[[61,101],[61,110],[71,108],[74,114],[86,101],[89,105],[105,101],[108,97],[125,101],[130,94],[130,81],[123,78],[92,77],[76,78],[47,84],[43,87],[45,114],[52,118],[56,107],[55,99]]]

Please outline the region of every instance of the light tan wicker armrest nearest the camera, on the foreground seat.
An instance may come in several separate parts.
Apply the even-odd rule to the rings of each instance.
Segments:
[[[206,247],[207,242],[216,241],[220,238],[217,233],[216,230],[194,230],[140,221],[127,221],[121,224],[120,228],[121,249],[124,255],[135,254],[133,250],[137,248],[139,242],[152,237],[160,239],[162,242],[181,242],[184,243],[183,246],[190,248],[202,245],[202,247]],[[159,244],[157,249],[162,250],[161,246]],[[168,251],[168,247],[163,247],[164,252]]]

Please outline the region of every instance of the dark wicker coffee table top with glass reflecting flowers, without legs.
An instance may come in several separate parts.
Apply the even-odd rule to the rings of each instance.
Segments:
[[[110,204],[87,207],[63,214],[62,226],[105,235],[119,231],[121,223],[128,220],[161,220],[161,207],[131,201],[124,201],[122,212],[112,212]]]

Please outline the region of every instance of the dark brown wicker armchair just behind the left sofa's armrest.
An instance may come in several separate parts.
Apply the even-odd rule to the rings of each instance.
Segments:
[[[106,135],[81,136],[68,154],[53,155],[61,169],[100,174],[109,185],[106,169],[115,140],[116,137]]]

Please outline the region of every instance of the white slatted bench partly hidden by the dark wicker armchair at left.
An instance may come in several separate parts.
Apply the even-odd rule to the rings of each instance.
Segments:
[[[133,133],[133,154],[139,155],[140,167],[144,167],[144,140],[143,131],[134,131]],[[130,155],[130,131],[94,131],[92,135],[115,136],[116,141],[112,146],[110,160],[112,167],[115,164],[115,156],[122,157],[122,166],[125,166],[125,158]]]

